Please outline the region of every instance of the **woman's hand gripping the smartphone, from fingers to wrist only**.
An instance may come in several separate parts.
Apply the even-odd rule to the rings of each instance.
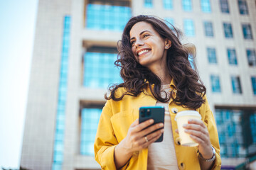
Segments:
[[[134,152],[140,149],[144,149],[148,147],[152,142],[158,140],[161,134],[164,132],[164,129],[162,129],[164,124],[157,123],[156,125],[152,125],[153,123],[153,119],[146,120],[143,123],[139,123],[139,119],[135,120],[134,123],[132,123],[132,125],[129,127],[127,137],[122,140],[123,147],[129,149],[130,152]],[[161,129],[157,130],[159,128]],[[154,132],[154,130],[157,131]]]

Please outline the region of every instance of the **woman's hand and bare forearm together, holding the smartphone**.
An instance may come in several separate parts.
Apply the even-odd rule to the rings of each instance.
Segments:
[[[153,123],[154,120],[152,119],[146,120],[143,123],[139,123],[137,119],[130,125],[127,136],[114,148],[114,163],[117,169],[129,161],[134,151],[148,147],[161,136],[164,132],[164,129],[162,129],[164,124],[157,123],[156,125],[152,125]],[[158,130],[159,128],[161,129]]]

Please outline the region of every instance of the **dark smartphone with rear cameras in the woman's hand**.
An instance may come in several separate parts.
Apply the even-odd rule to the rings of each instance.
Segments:
[[[164,106],[143,106],[139,108],[139,123],[149,119],[154,120],[153,125],[156,123],[164,123]],[[163,139],[164,133],[155,142],[162,142]]]

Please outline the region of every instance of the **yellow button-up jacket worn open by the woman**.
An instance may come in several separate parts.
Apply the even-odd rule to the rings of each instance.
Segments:
[[[174,88],[173,81],[170,84]],[[124,88],[119,88],[116,91],[116,96],[121,96],[125,92]],[[174,95],[176,96],[176,94]],[[196,111],[198,111],[202,120],[208,128],[210,134],[210,142],[216,150],[215,164],[212,169],[220,169],[220,145],[218,142],[218,132],[213,118],[213,113],[210,111],[206,96],[204,97],[206,103]],[[97,128],[95,137],[95,160],[100,164],[102,169],[114,170],[114,147],[127,136],[129,126],[139,118],[139,108],[142,106],[155,106],[156,99],[151,95],[148,89],[137,97],[125,95],[121,101],[108,100],[105,104],[100,122]],[[176,121],[174,120],[176,113],[174,111],[191,110],[177,106],[174,101],[169,102],[169,111],[171,115],[171,125],[174,136],[174,147],[178,161],[179,169],[200,169],[198,160],[197,147],[182,147],[179,145],[179,137],[175,132],[178,129]],[[162,153],[164,154],[164,153]],[[146,170],[148,149],[142,149],[134,152],[129,162],[125,164],[122,169]]]

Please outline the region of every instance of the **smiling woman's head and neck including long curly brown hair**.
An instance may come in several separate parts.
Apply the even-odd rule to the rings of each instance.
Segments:
[[[169,98],[161,97],[160,87],[169,84],[172,79],[180,97],[170,97],[180,106],[200,107],[204,103],[202,96],[206,94],[206,87],[188,61],[189,55],[196,54],[195,47],[192,44],[182,45],[178,39],[180,35],[179,30],[171,30],[160,18],[132,18],[124,28],[118,46],[119,59],[115,62],[121,67],[124,84],[112,86],[107,99],[121,100],[127,94],[137,96],[149,83],[154,84],[149,86],[152,95],[158,101],[166,102]],[[141,50],[149,52],[138,55]],[[116,98],[114,91],[119,87],[127,89],[127,93]]]

